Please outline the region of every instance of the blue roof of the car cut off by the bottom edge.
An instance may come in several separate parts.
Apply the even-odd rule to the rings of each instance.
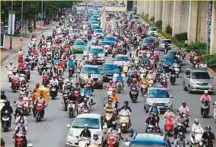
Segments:
[[[156,143],[165,145],[167,141],[160,134],[137,133],[131,140],[131,143]]]

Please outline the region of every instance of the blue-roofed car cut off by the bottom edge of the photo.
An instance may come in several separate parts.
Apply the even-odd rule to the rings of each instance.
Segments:
[[[171,147],[171,143],[160,134],[136,133],[125,147]]]

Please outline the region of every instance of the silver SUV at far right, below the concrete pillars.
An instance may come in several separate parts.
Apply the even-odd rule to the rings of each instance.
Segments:
[[[186,69],[183,87],[184,90],[188,90],[189,93],[195,91],[204,92],[205,90],[213,93],[214,91],[213,79],[206,69]]]

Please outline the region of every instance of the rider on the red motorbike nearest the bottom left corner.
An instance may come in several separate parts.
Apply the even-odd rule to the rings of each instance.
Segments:
[[[27,127],[24,124],[24,120],[20,121],[18,123],[18,125],[16,126],[16,128],[14,130],[14,137],[16,137],[16,134],[22,134],[23,135],[23,141],[24,141],[23,147],[26,147],[27,146],[27,140],[26,140]]]

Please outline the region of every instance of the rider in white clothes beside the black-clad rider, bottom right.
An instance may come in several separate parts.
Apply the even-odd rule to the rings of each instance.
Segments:
[[[193,137],[193,139],[196,141],[200,141],[202,136],[200,136],[200,138],[197,138],[196,135],[202,135],[203,132],[204,132],[204,130],[203,130],[202,126],[200,125],[199,120],[197,118],[194,119],[194,124],[192,125],[192,133],[193,133],[192,137]]]

